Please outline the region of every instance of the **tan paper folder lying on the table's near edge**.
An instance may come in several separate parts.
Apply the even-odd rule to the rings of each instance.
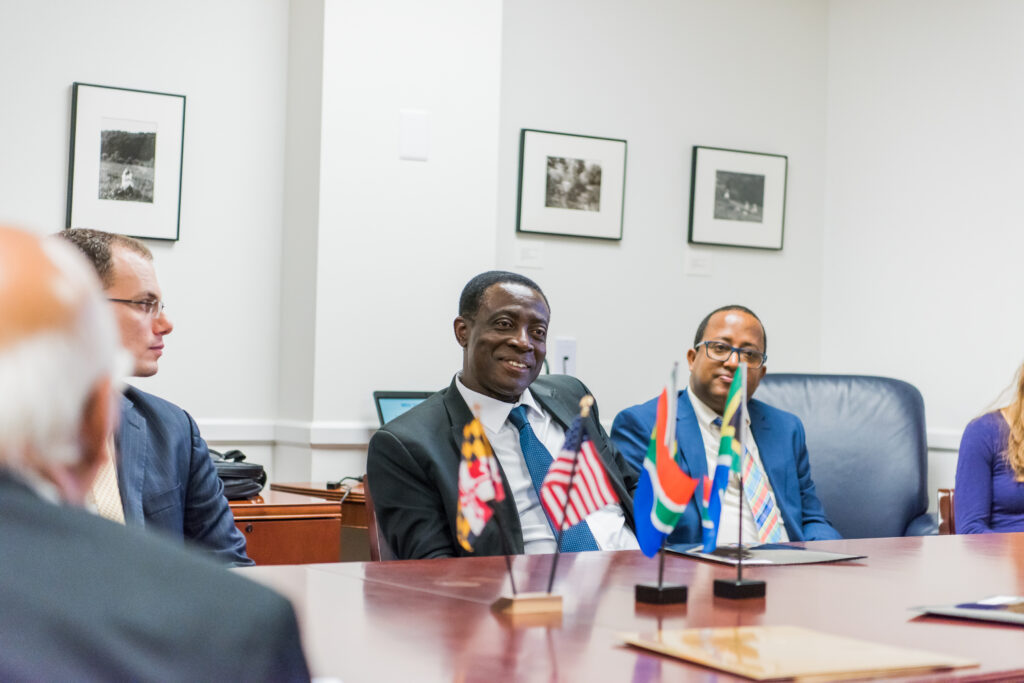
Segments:
[[[794,626],[623,634],[633,645],[757,681],[839,680],[976,667],[977,661]]]

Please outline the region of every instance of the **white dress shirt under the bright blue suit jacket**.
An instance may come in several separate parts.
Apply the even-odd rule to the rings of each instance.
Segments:
[[[700,426],[700,436],[703,437],[705,442],[705,457],[708,459],[708,475],[714,479],[715,478],[715,468],[718,466],[718,447],[722,441],[722,428],[715,424],[716,418],[721,418],[722,416],[713,411],[708,407],[702,400],[697,398],[697,395],[693,392],[692,385],[686,392],[690,397],[690,403],[693,405],[693,413],[696,415],[697,424]],[[758,444],[754,440],[754,433],[751,431],[751,416],[743,416],[746,420],[745,429],[745,440],[743,440],[743,445],[750,451],[751,456],[757,462],[758,466],[761,467],[761,471],[764,471],[764,465],[761,463],[761,453],[758,451]],[[771,490],[771,482],[768,481],[768,474],[765,473],[765,484],[768,485],[768,489]],[[774,499],[775,492],[772,492],[772,498]],[[739,505],[742,501],[743,505],[743,546],[758,545],[758,524],[754,521],[754,514],[751,512],[751,504],[748,502],[745,496],[740,496],[739,494],[739,477],[733,475],[729,477],[729,485],[725,489],[725,496],[722,499],[722,516],[719,518],[718,523],[718,543],[719,545],[727,543],[736,543],[739,540]],[[777,506],[778,503],[775,503]],[[780,543],[784,543],[790,540],[790,535],[785,530],[785,522],[782,521],[782,514],[779,513],[778,517],[779,528],[782,531],[782,537],[779,539]]]

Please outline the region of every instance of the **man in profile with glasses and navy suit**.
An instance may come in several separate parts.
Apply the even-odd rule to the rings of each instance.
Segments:
[[[133,359],[132,375],[156,375],[164,337],[174,326],[164,309],[150,249],[132,238],[100,230],[74,228],[60,237],[78,247],[99,274],[121,344]],[[120,497],[120,521],[187,539],[224,563],[252,564],[206,441],[187,413],[128,385],[114,454],[117,486],[97,492],[100,514],[112,516],[104,497]],[[118,506],[113,507],[116,518]]]

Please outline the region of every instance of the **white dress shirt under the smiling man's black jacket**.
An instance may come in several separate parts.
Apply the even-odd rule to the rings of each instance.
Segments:
[[[541,501],[534,488],[534,480],[526,467],[526,459],[519,445],[519,430],[509,422],[509,413],[516,405],[526,407],[526,420],[534,433],[548,453],[554,455],[561,451],[565,443],[565,430],[552,418],[526,389],[516,403],[507,403],[490,396],[485,396],[466,387],[462,378],[456,377],[456,387],[463,400],[469,405],[470,412],[478,414],[483,432],[490,441],[490,447],[502,466],[505,478],[508,480],[516,509],[519,511],[519,522],[522,525],[523,548],[527,554],[555,552],[555,535],[548,524],[541,507]],[[590,531],[601,550],[627,550],[639,548],[636,537],[626,525],[623,508],[618,504],[604,508],[587,517]]]

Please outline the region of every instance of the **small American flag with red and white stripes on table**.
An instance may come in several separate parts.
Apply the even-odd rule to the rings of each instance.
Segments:
[[[573,462],[575,471],[573,472]],[[569,488],[569,477],[572,490]],[[566,498],[568,505],[565,504]],[[584,421],[577,417],[565,433],[565,445],[541,485],[541,505],[555,528],[562,528],[562,511],[565,511],[565,527],[579,524],[587,515],[606,505],[617,503],[608,475],[601,465],[601,458],[587,434]]]

